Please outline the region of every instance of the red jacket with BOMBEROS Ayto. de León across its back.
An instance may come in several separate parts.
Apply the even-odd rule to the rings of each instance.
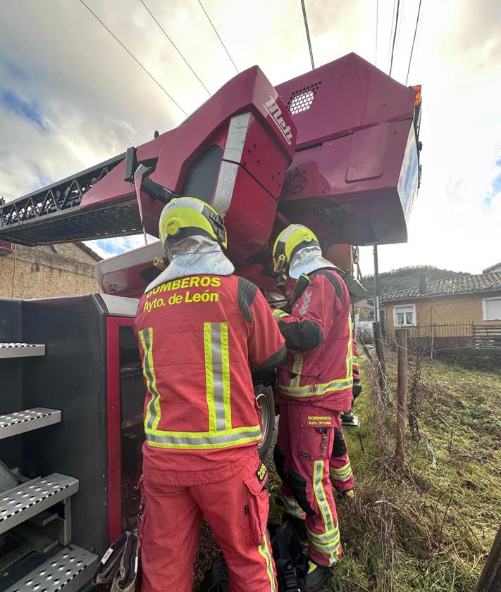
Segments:
[[[235,458],[229,451],[261,441],[250,367],[276,367],[285,345],[252,282],[173,279],[142,296],[135,328],[147,386],[145,465],[196,471],[211,458],[214,469]]]

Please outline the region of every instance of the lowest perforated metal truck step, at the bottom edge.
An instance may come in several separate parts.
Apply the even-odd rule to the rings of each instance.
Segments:
[[[6,592],[77,592],[92,578],[98,557],[75,545],[63,548]]]

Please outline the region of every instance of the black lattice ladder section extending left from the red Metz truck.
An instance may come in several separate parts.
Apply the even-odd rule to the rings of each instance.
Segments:
[[[80,210],[85,193],[123,163],[124,158],[125,153],[119,154],[77,175],[4,203],[0,206],[0,238],[35,246],[141,232],[133,188],[130,194],[114,202],[113,208],[103,205],[85,212]]]

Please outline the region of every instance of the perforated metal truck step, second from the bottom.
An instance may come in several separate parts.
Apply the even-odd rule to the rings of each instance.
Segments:
[[[38,477],[0,494],[0,534],[73,496],[78,479],[59,473]]]

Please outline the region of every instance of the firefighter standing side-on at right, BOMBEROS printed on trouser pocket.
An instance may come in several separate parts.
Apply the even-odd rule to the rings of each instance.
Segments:
[[[290,225],[278,235],[273,263],[275,272],[297,279],[292,313],[273,311],[288,348],[278,368],[280,421],[273,457],[283,481],[285,512],[305,518],[306,583],[314,592],[326,583],[341,553],[329,464],[333,448],[344,441],[340,412],[352,407],[350,295],[307,227]],[[346,465],[346,451],[339,457]]]

